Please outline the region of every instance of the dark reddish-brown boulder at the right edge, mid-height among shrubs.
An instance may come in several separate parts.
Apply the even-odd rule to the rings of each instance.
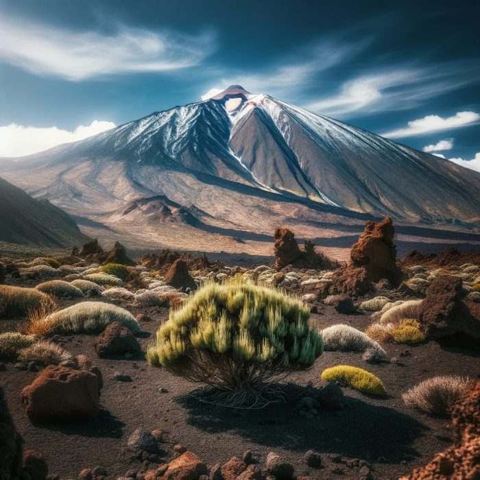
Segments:
[[[461,278],[437,276],[425,293],[418,320],[427,337],[450,343],[480,339],[480,304],[463,300]]]

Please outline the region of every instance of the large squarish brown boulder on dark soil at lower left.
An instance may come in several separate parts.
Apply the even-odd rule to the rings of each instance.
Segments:
[[[64,422],[95,417],[100,408],[100,382],[86,370],[50,365],[21,392],[32,422]]]

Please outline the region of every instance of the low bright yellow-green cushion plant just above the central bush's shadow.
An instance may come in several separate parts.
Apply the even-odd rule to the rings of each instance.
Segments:
[[[363,368],[350,365],[337,365],[336,367],[327,368],[322,373],[322,380],[345,383],[363,394],[376,396],[387,394],[383,383],[377,376],[363,370]]]

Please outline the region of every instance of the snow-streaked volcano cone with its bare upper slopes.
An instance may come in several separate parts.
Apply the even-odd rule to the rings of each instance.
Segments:
[[[0,173],[85,217],[165,195],[239,224],[238,208],[225,206],[228,192],[237,192],[249,195],[245,208],[261,208],[267,196],[336,215],[480,221],[480,173],[238,85],[83,141],[3,160]]]

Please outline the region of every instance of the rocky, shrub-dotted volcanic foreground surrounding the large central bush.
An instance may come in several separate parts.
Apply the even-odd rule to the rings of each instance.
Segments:
[[[2,259],[0,479],[479,478],[480,254],[400,261],[388,218],[368,222],[348,264],[285,228],[274,253],[250,268],[169,250],[133,261],[91,241],[70,256]],[[144,356],[169,309],[240,275],[302,298],[324,337],[313,368],[280,383],[285,402],[259,411],[202,404]],[[93,328],[97,314],[81,314],[99,303]],[[386,394],[322,381],[342,364]],[[448,375],[455,396],[435,414],[407,401]]]

